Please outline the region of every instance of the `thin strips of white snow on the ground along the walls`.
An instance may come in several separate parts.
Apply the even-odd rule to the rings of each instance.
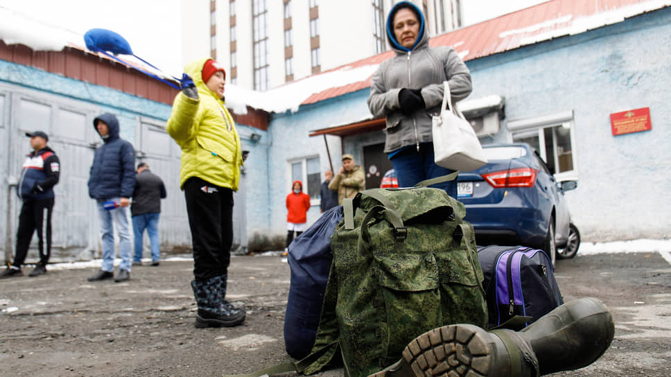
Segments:
[[[658,252],[671,265],[671,240],[629,240],[618,241],[611,243],[590,243],[584,242],[580,244],[576,258],[581,255],[603,254],[603,253],[634,253],[634,252]],[[267,252],[260,256],[279,256],[280,252]],[[236,256],[233,256],[234,258]],[[286,258],[283,258],[286,261]],[[116,259],[114,265],[118,266],[121,259]],[[150,259],[144,259],[143,263],[146,265],[150,263]],[[193,261],[190,256],[171,256],[164,258],[162,262],[169,261]],[[92,261],[79,261],[68,263],[53,263],[49,265],[49,270],[72,270],[76,268],[100,268],[103,263],[102,259],[94,259]]]

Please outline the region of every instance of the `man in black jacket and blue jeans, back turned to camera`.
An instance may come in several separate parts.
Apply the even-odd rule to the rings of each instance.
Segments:
[[[133,220],[135,236],[135,255],[133,265],[142,264],[142,235],[147,229],[151,250],[151,265],[159,265],[161,249],[159,247],[159,215],[161,200],[166,198],[166,186],[163,180],[149,171],[149,165],[141,162],[135,175],[133,202],[130,204],[130,216]]]

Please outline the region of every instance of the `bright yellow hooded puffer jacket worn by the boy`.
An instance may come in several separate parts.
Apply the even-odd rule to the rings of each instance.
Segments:
[[[168,134],[182,148],[180,187],[191,177],[238,191],[243,162],[240,137],[222,100],[202,80],[207,59],[184,67],[198,89],[198,99],[180,91],[168,119]]]

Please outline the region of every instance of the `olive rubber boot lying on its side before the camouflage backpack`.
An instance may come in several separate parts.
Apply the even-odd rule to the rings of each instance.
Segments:
[[[472,324],[434,328],[375,377],[535,377],[590,365],[608,349],[615,324],[598,299],[570,301],[523,331]]]

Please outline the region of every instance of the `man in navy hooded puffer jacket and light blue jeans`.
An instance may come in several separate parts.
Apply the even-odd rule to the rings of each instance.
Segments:
[[[96,200],[103,239],[103,265],[89,281],[114,277],[114,229],[119,236],[119,274],[114,281],[130,279],[130,231],[127,208],[135,187],[135,150],[119,137],[119,121],[114,114],[102,114],[93,121],[103,138],[89,176],[89,196]]]

